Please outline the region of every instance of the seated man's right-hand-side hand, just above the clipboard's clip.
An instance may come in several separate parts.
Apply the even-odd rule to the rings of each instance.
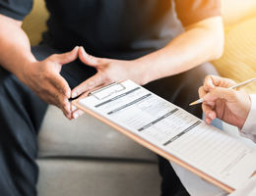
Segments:
[[[97,73],[75,87],[71,93],[72,98],[80,95],[86,96],[90,91],[114,81],[132,79],[140,85],[147,82],[146,65],[136,60],[122,61],[97,58],[86,53],[83,47],[79,48],[79,58],[86,66],[96,68]],[[81,115],[83,115],[82,111],[74,111],[73,118],[76,119]]]

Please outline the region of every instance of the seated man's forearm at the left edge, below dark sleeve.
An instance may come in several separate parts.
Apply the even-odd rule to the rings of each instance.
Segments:
[[[0,65],[19,76],[24,66],[35,61],[22,22],[0,15]]]

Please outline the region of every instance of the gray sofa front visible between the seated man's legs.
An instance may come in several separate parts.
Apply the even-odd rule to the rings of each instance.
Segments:
[[[49,106],[38,149],[38,196],[160,195],[157,156],[89,115]]]

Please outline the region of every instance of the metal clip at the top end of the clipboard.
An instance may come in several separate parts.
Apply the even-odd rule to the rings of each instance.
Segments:
[[[95,91],[92,91],[89,96],[94,96],[98,100],[105,99],[107,97],[110,97],[111,95],[120,92],[122,90],[125,90],[126,87],[122,83],[113,82],[106,86],[103,86]]]

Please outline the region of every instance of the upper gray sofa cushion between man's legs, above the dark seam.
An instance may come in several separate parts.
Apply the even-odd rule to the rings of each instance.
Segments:
[[[69,121],[49,106],[38,136],[38,156],[98,157],[157,161],[150,150],[85,114]]]

